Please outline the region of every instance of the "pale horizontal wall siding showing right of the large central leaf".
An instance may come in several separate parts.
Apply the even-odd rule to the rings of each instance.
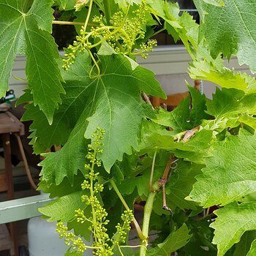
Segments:
[[[194,86],[194,80],[189,78],[188,75],[189,61],[191,61],[191,58],[184,46],[158,47],[146,60],[138,59],[138,62],[143,67],[151,69],[156,73],[157,80],[161,83],[166,94],[187,91],[185,80]],[[252,75],[246,65],[239,66],[235,56],[230,61],[225,60],[225,65],[230,68],[234,67],[236,72],[246,72]],[[211,98],[211,94],[215,91],[215,86],[214,83],[203,81],[203,92],[206,94],[206,97]]]

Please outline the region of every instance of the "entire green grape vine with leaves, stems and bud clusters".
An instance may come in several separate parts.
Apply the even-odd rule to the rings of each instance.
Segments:
[[[223,58],[256,71],[256,5],[194,3],[200,24],[173,1],[0,0],[0,97],[26,54],[18,103],[45,157],[39,189],[56,197],[39,211],[58,222],[66,255],[255,255],[256,82]],[[64,57],[53,24],[78,31]],[[212,99],[188,85],[173,111],[151,105],[166,95],[136,58],[163,31],[184,44],[192,79],[222,88]]]

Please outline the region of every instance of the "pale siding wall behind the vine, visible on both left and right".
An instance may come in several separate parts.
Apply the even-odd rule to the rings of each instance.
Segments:
[[[157,80],[162,85],[162,88],[167,94],[176,94],[187,91],[185,80],[192,86],[194,81],[189,78],[188,63],[191,61],[187,50],[183,46],[172,47],[158,47],[150,53],[147,59],[138,58],[138,62],[148,69],[151,69],[157,75]],[[227,61],[226,61],[227,62]],[[18,78],[26,78],[25,75],[26,58],[18,56],[15,60],[15,65],[12,69],[12,74]],[[250,74],[248,67],[239,66],[236,57],[230,59],[227,67],[234,67],[236,71],[247,72]],[[15,91],[17,97],[22,94],[23,89],[26,88],[26,81],[16,80],[10,78],[10,88]],[[215,86],[210,82],[203,82],[203,91],[207,97],[215,91]]]

